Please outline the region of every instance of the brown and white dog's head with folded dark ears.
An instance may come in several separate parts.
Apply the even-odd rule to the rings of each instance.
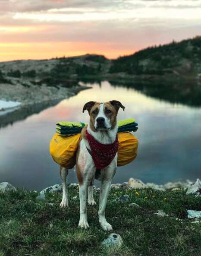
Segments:
[[[108,101],[105,103],[89,101],[83,107],[83,113],[88,111],[90,116],[90,127],[94,132],[111,130],[116,126],[116,116],[121,107],[124,106],[119,101]]]

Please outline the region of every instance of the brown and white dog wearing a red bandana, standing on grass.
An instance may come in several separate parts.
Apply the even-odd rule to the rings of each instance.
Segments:
[[[82,138],[76,152],[76,174],[79,182],[80,220],[79,227],[89,228],[87,220],[87,190],[88,205],[96,205],[93,197],[94,179],[101,181],[99,202],[99,223],[104,231],[112,231],[112,226],[105,218],[107,196],[111,180],[117,168],[117,121],[119,108],[125,107],[119,101],[105,103],[89,101],[83,107],[83,113],[88,111],[90,120],[88,126],[82,129]],[[96,148],[97,147],[97,148]],[[100,159],[99,159],[100,158]],[[60,167],[63,181],[63,198],[61,207],[68,207],[68,189],[66,177],[68,169]]]

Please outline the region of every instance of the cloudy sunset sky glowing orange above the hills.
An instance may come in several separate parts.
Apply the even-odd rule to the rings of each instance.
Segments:
[[[0,0],[0,61],[116,58],[201,35],[201,0]]]

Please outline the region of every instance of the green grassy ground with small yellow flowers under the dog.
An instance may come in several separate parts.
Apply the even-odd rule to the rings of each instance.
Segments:
[[[128,194],[131,202],[113,202]],[[61,193],[47,194],[18,190],[0,193],[0,256],[200,256],[201,222],[187,219],[186,209],[201,210],[201,197],[184,191],[111,190],[107,202],[107,221],[123,239],[118,249],[103,249],[108,233],[101,230],[98,206],[88,207],[88,230],[78,228],[78,190],[69,191],[69,209],[60,209]],[[99,195],[95,194],[98,202]],[[53,203],[54,205],[50,205]],[[163,209],[169,217],[154,215]]]

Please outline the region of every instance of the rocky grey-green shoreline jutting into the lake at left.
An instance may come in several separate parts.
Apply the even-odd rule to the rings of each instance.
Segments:
[[[30,87],[25,88],[21,84],[0,84],[0,95],[3,95],[0,100],[20,102],[18,106],[0,109],[0,127],[23,120],[31,114],[39,113],[45,108],[54,106],[63,99],[75,96],[88,88],[90,87],[79,84],[71,88],[62,86],[56,88],[46,85],[30,85]]]

